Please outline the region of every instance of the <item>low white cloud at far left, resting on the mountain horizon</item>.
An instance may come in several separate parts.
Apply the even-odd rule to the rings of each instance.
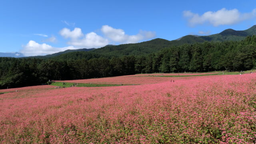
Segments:
[[[46,54],[53,54],[56,52],[61,52],[64,50],[75,49],[74,46],[68,46],[64,48],[55,48],[48,44],[38,44],[37,42],[30,40],[28,44],[22,46],[22,50],[20,53],[24,54],[24,56],[42,56]]]

